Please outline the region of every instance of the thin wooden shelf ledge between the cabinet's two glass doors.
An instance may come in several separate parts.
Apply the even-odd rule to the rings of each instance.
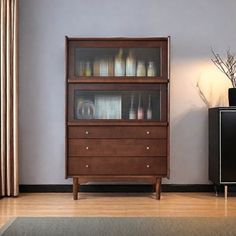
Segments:
[[[150,83],[150,84],[167,84],[168,79],[161,79],[160,77],[135,77],[135,76],[83,76],[83,77],[72,77],[68,79],[68,83],[79,84],[79,83]]]

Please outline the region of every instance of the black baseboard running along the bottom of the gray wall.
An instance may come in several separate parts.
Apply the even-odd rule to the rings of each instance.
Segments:
[[[214,192],[212,184],[163,184],[162,192]],[[230,192],[236,192],[236,186],[229,186]],[[154,192],[154,186],[149,184],[89,184],[81,185],[81,192]],[[223,192],[223,186],[219,187]],[[21,193],[68,193],[72,192],[72,185],[20,185]]]

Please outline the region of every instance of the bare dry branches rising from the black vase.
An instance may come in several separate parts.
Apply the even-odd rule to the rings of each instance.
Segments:
[[[217,66],[217,68],[222,71],[231,81],[232,86],[236,88],[236,58],[233,53],[231,53],[230,49],[227,51],[226,59],[223,60],[222,57],[215,53],[213,49],[211,49],[212,54],[214,56],[212,62]]]

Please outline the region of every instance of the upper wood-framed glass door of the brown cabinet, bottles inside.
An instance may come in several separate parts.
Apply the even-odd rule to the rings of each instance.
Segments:
[[[168,77],[168,39],[77,40],[68,44],[70,79]]]

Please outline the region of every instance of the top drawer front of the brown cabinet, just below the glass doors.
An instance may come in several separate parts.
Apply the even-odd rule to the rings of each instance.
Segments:
[[[77,126],[68,128],[69,138],[167,138],[167,127],[161,126]]]

